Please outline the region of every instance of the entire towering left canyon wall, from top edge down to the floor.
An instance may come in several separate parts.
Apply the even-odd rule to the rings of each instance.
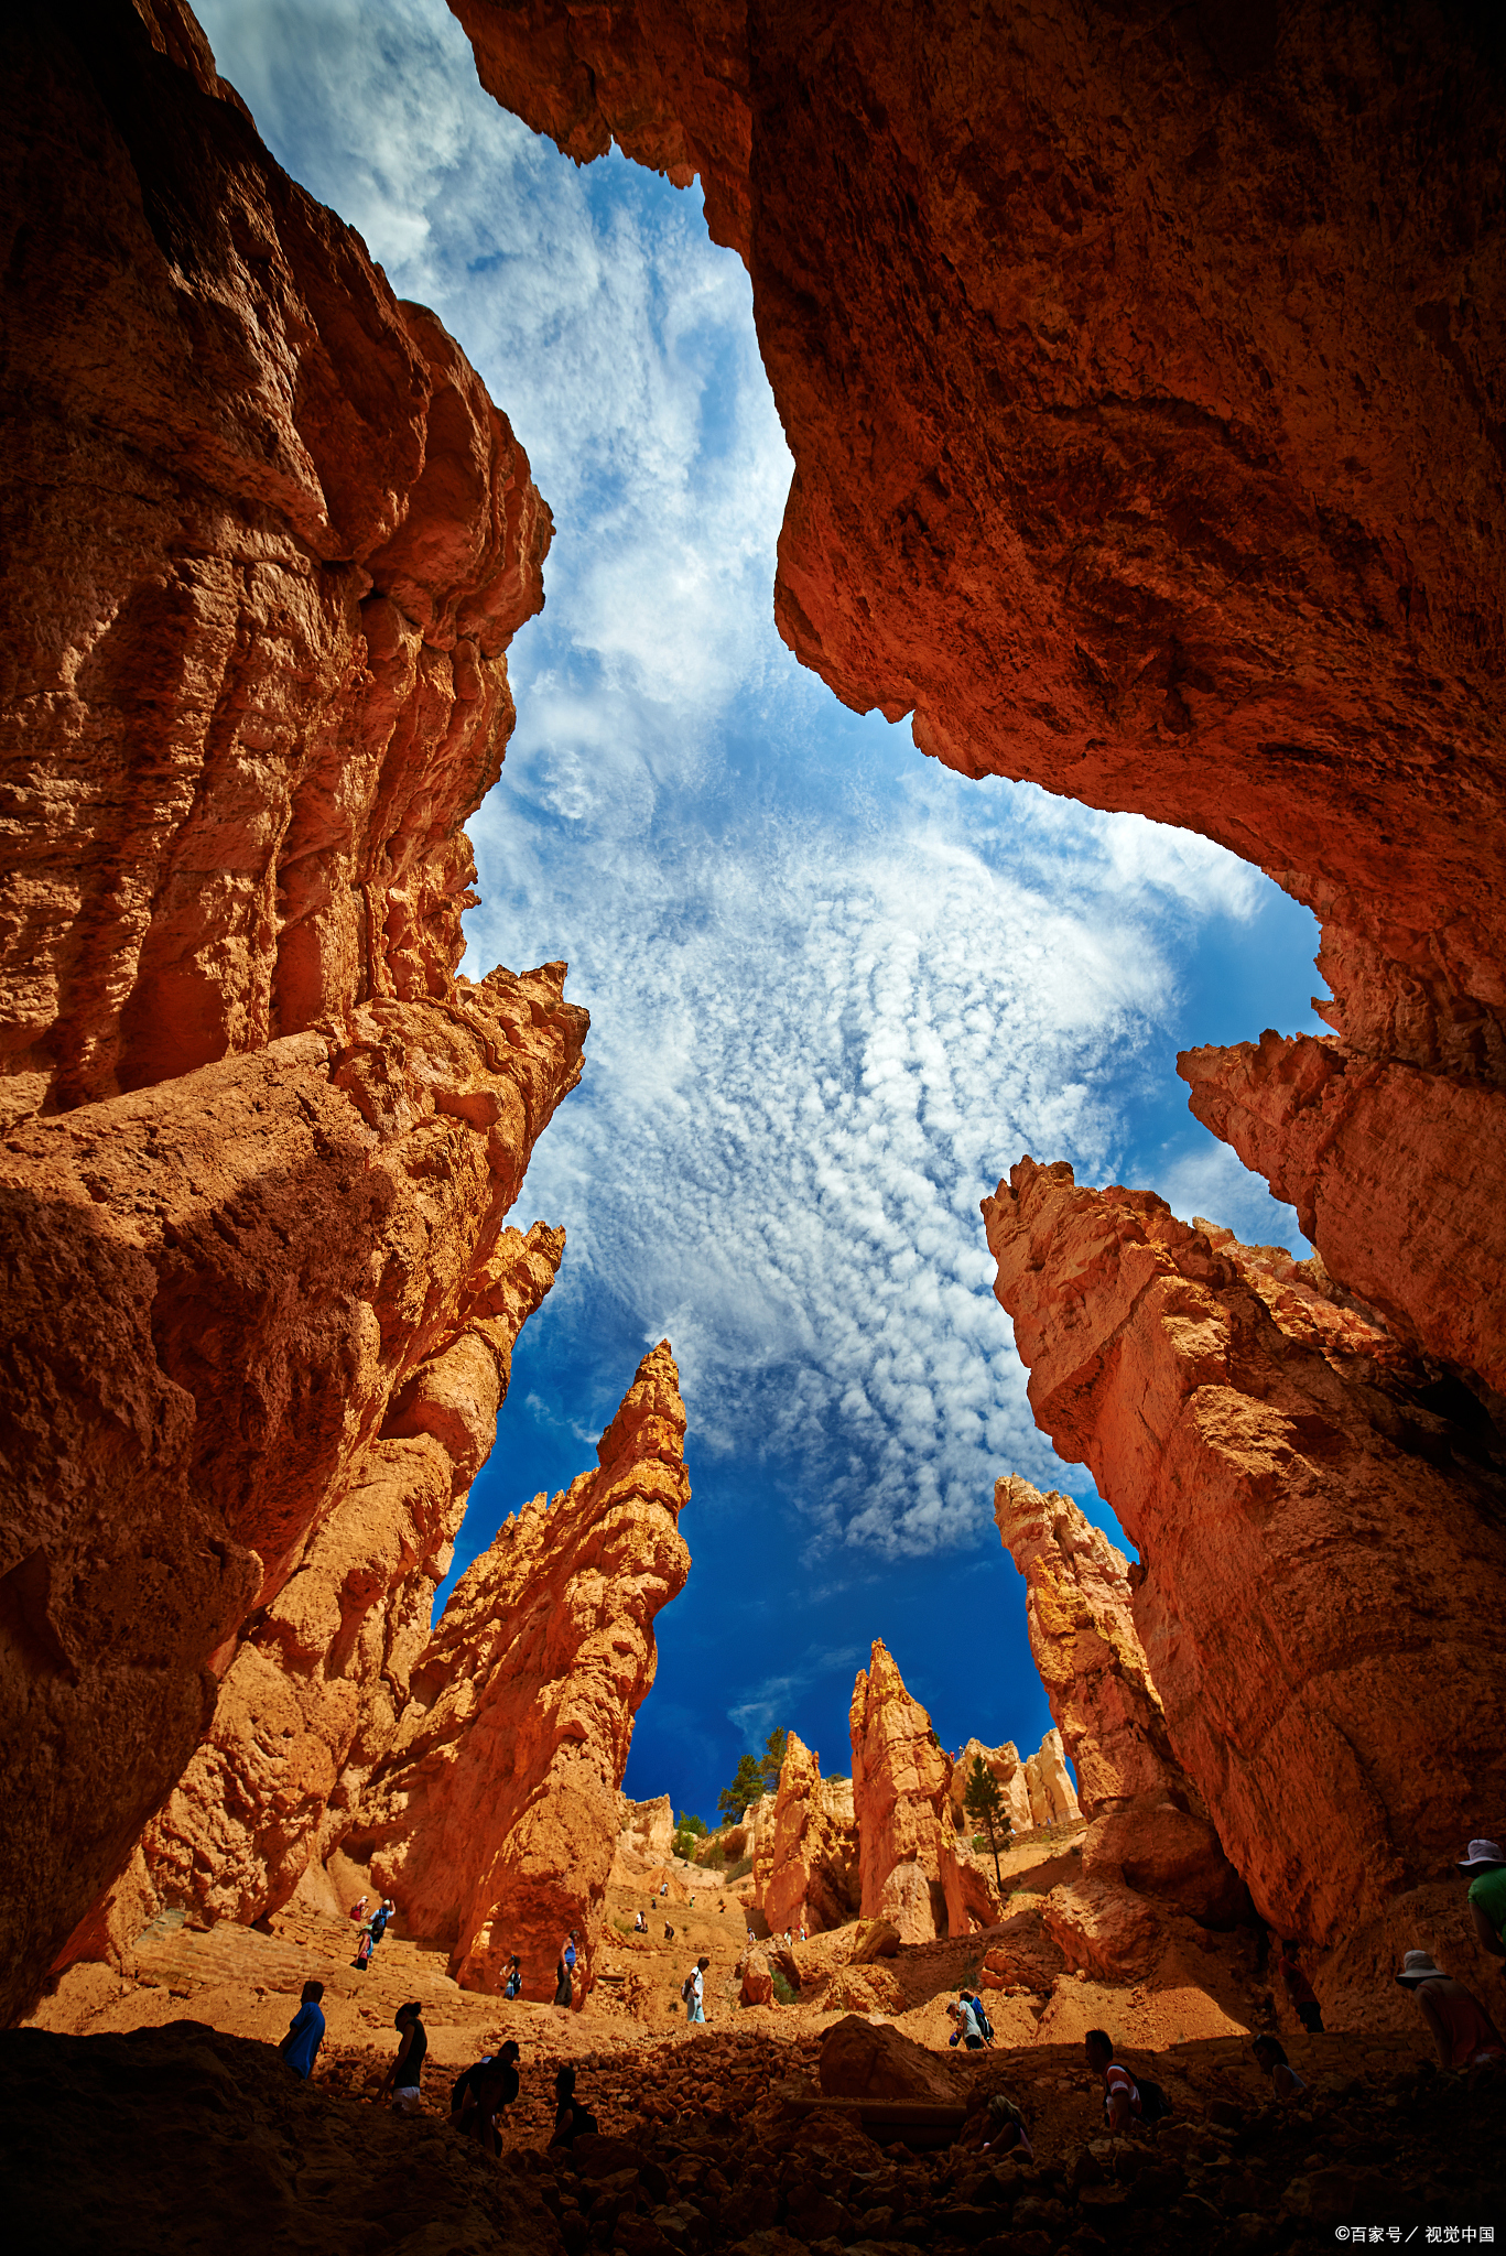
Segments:
[[[312,1742],[377,1728],[553,1266],[504,1220],[587,1020],[564,966],[456,977],[549,541],[506,420],[176,0],[34,11],[0,72],[11,2019],[226,1669],[201,1782],[251,1807],[158,1836],[194,1902],[221,1850],[275,1895]]]

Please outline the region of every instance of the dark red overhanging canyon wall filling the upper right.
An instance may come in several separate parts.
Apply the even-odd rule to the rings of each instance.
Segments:
[[[1501,43],[1422,0],[452,0],[700,174],[795,478],[774,611],[971,776],[1219,839],[1334,1042],[1194,1051],[1332,1277],[1501,1392]]]

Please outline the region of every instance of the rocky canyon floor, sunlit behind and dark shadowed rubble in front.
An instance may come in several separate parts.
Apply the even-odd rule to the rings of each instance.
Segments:
[[[1014,1850],[1014,1902],[1054,1884],[1070,1859],[1070,1839]],[[684,1866],[673,1886],[695,1904],[612,1888],[603,1979],[580,2012],[458,1990],[443,1954],[400,1936],[357,1974],[350,1922],[307,1902],[269,1931],[160,1922],[140,1938],[131,1976],[70,1969],[27,2028],[0,2037],[25,2245],[115,2256],[253,2245],[341,2256],[1052,2256],[1109,2245],[1255,2256],[1332,2247],[1339,2227],[1407,2238],[1416,2224],[1418,2245],[1429,2224],[1506,2227],[1501,2089],[1438,2076],[1420,2024],[1416,2039],[1287,2035],[1312,2089],[1292,2109],[1269,2103],[1249,2028],[1271,2024],[1271,2001],[1246,1933],[1206,1938],[1197,1967],[1172,1938],[1136,1988],[1066,1976],[1045,2006],[993,1992],[996,2046],[957,2055],[944,2001],[975,1974],[989,1936],[905,1947],[849,1974],[851,1931],[817,1936],[795,1942],[808,2001],[743,2008],[734,1967],[747,1909]],[[639,1909],[648,1938],[621,1933]],[[711,1958],[707,2026],[686,2030],[677,1992],[700,1954]],[[298,2085],[271,2046],[309,1976],[325,1983],[327,2039],[316,2076]],[[928,2046],[957,2100],[978,2082],[1016,2098],[1034,2166],[883,2148],[851,2112],[808,2107],[853,1976],[892,1985],[894,2010],[865,2019]],[[406,1999],[422,1999],[429,2028],[418,2121],[370,2105]],[[1172,2116],[1154,2139],[1102,2136],[1082,2060],[1095,2021],[1163,2085]],[[458,2069],[506,2037],[522,2046],[522,2094],[494,2164],[456,2139],[447,2100]],[[562,2060],[601,2123],[576,2157],[544,2152]]]

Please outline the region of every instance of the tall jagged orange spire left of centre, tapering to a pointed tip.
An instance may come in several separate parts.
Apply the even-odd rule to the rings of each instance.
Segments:
[[[465,1988],[553,1997],[567,1929],[596,1936],[632,1717],[655,1678],[657,1611],[684,1588],[684,1403],[668,1342],[643,1356],[598,1466],[535,1496],[456,1584],[411,1674],[348,1854],[449,1951]]]

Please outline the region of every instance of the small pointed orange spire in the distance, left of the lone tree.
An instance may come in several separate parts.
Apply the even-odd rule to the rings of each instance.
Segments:
[[[892,1920],[903,1942],[966,1936],[998,1915],[991,1877],[973,1866],[951,1816],[951,1755],[874,1640],[851,1697],[858,1911]]]

